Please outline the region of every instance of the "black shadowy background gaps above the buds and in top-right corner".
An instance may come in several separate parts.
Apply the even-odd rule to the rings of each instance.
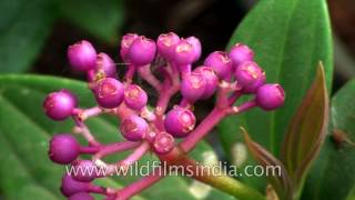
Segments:
[[[254,3],[255,0],[126,0],[123,24],[116,31],[119,34],[136,32],[153,39],[168,31],[182,37],[195,36],[202,41],[204,58],[211,51],[225,48],[232,32]],[[355,74],[355,1],[328,0],[328,7],[334,29],[335,91]],[[30,72],[82,79],[69,70],[65,57],[68,46],[81,39],[90,40],[99,51],[108,52],[120,62],[120,38],[108,43],[71,22],[59,20]]]

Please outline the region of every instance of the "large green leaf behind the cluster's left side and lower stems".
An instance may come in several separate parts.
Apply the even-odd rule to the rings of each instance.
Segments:
[[[63,199],[59,187],[64,168],[48,159],[48,141],[53,133],[70,131],[73,123],[70,120],[53,122],[42,111],[45,94],[62,88],[78,94],[80,106],[94,104],[90,90],[79,81],[40,76],[0,76],[0,191],[7,199]],[[102,142],[122,140],[114,118],[90,119],[88,124]],[[206,152],[213,153],[213,150],[201,142],[193,154]],[[154,159],[153,156],[146,156],[143,160],[150,159]],[[202,157],[196,159],[202,161]],[[119,177],[114,180],[102,179],[100,183],[122,187],[133,179],[136,178]],[[184,179],[168,177],[144,191],[141,198],[195,199],[196,193],[189,191],[191,186]],[[171,196],[172,192],[178,196]],[[206,198],[231,199],[213,189]]]

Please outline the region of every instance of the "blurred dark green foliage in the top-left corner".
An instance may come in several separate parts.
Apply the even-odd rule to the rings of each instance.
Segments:
[[[31,67],[58,20],[108,43],[115,41],[123,23],[121,0],[3,0],[0,8],[0,72],[6,73]]]

